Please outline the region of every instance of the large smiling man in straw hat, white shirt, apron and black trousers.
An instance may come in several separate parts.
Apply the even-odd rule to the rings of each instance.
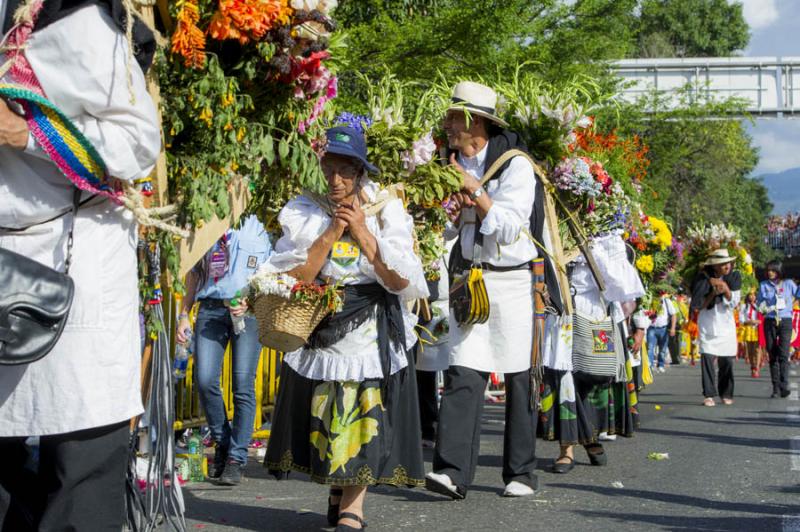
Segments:
[[[449,238],[458,238],[451,272],[479,266],[490,302],[488,320],[462,325],[450,313],[450,367],[439,414],[429,490],[463,499],[478,463],[484,390],[491,373],[504,373],[506,386],[504,495],[533,495],[537,487],[535,408],[531,408],[533,293],[530,264],[542,255],[526,235],[543,238],[541,184],[531,162],[514,156],[491,176],[485,174],[511,149],[527,152],[519,135],[504,129],[496,113],[497,95],[480,83],[461,82],[453,90],[444,119],[449,160],[462,174],[452,198]],[[481,179],[488,177],[485,186]],[[452,274],[451,274],[452,278]],[[558,295],[556,287],[551,294]],[[553,304],[560,309],[561,302]]]

